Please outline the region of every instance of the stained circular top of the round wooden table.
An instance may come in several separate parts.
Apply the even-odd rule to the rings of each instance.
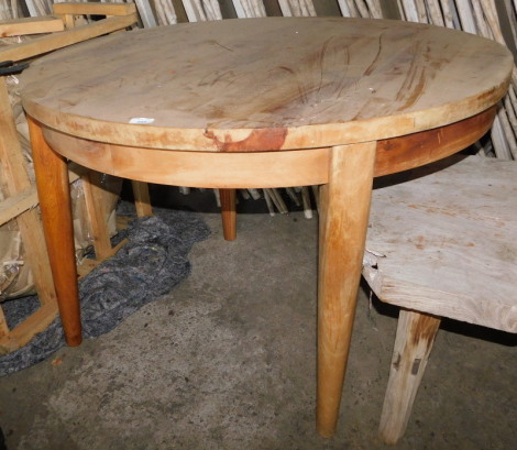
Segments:
[[[22,75],[26,111],[99,142],[268,151],[452,123],[505,94],[502,45],[431,25],[343,18],[198,22],[116,33]]]

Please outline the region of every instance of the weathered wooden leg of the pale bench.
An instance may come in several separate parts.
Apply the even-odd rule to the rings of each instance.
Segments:
[[[426,314],[400,310],[381,415],[380,433],[386,443],[397,442],[406,430],[440,321]]]

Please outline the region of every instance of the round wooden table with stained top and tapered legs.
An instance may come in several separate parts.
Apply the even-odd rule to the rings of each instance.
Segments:
[[[512,66],[471,34],[342,18],[139,30],[33,63],[22,98],[67,342],[81,340],[67,158],[178,186],[322,185],[317,428],[331,436],[372,179],[481,138]]]

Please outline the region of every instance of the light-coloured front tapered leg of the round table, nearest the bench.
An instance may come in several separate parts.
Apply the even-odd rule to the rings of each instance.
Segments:
[[[376,143],[332,149],[320,188],[317,430],[336,432],[355,315]]]

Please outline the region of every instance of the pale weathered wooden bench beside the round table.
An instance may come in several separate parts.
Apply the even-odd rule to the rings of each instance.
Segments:
[[[409,176],[374,190],[363,264],[376,296],[402,308],[388,443],[406,429],[441,317],[517,332],[517,163],[457,156]]]

